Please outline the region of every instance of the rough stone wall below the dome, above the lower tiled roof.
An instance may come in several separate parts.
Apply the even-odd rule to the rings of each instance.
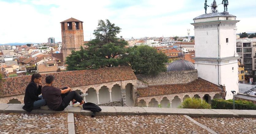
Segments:
[[[197,70],[161,72],[156,76],[136,75],[136,77],[140,81],[147,82],[148,85],[181,84],[197,79]]]

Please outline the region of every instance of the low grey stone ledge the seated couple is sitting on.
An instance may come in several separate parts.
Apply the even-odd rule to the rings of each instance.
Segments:
[[[23,104],[0,104],[0,113],[27,113],[22,109]],[[256,110],[227,110],[227,109],[179,109],[179,108],[141,108],[141,107],[100,107],[100,115],[188,115],[189,117],[240,117],[256,118]],[[64,111],[35,109],[32,114],[52,114],[69,112],[74,114],[91,115],[91,111],[68,106]]]

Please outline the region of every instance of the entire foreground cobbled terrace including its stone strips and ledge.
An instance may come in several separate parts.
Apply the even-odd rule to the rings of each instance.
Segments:
[[[23,104],[0,104],[0,113],[2,113],[0,114],[0,121],[1,123],[3,122],[0,125],[4,126],[3,129],[0,129],[0,134],[9,131],[18,133],[20,131],[18,129],[21,129],[21,132],[26,134],[55,133],[55,129],[59,129],[59,125],[63,124],[68,125],[62,126],[64,128],[67,127],[68,131],[58,130],[58,132],[68,132],[68,134],[133,134],[141,132],[150,134],[255,134],[256,132],[256,110],[101,107],[102,111],[97,113],[95,118],[91,118],[89,115],[91,115],[92,112],[79,107],[73,108],[68,106],[64,111],[36,109],[33,110],[31,114],[27,114],[27,112],[22,109],[22,106]],[[64,114],[65,117],[63,117],[62,114]],[[40,117],[40,120],[36,119],[38,117]],[[57,123],[51,123],[57,118]],[[27,119],[31,119],[31,121],[27,121]],[[54,120],[52,121],[52,119]],[[13,122],[14,124],[18,124],[14,125],[14,128],[10,126]],[[44,130],[39,131],[37,129],[39,125],[43,125],[40,127],[43,127]],[[236,129],[232,129],[232,127],[230,127],[232,125],[236,126]],[[54,130],[51,130],[52,128],[54,128]]]

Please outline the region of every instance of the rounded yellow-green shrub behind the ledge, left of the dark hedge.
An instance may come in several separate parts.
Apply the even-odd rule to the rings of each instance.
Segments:
[[[200,98],[186,98],[178,108],[210,109],[211,105]]]

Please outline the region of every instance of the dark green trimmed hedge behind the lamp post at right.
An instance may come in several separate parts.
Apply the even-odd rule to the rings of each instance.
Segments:
[[[214,99],[212,100],[213,109],[233,109],[233,100]],[[256,110],[256,105],[250,101],[235,100],[235,109]]]

